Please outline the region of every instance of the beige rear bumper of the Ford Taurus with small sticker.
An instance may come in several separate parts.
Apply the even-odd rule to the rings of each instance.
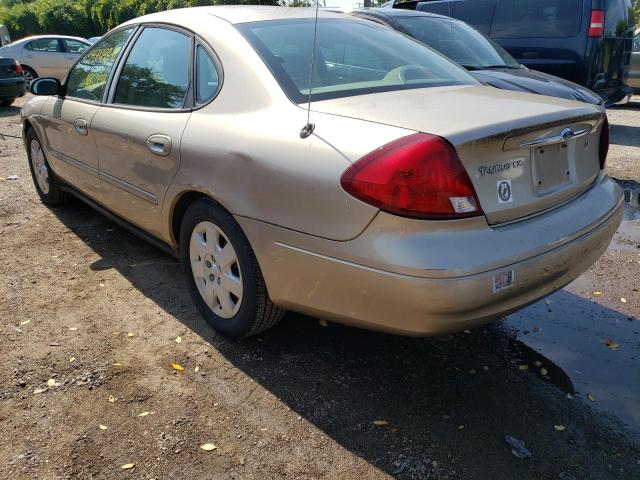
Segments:
[[[349,242],[305,242],[299,233],[238,221],[271,299],[283,308],[392,333],[438,335],[500,318],[571,282],[606,250],[622,213],[620,187],[602,177],[562,207],[498,228],[486,221],[478,228],[479,219],[417,222],[423,230],[417,233],[411,226],[388,228],[397,217],[387,216]],[[554,228],[562,223],[568,229]],[[392,254],[385,250],[394,246]],[[368,261],[353,261],[363,252]],[[382,266],[381,258],[395,264]],[[510,271],[513,284],[494,293],[494,277]]]

